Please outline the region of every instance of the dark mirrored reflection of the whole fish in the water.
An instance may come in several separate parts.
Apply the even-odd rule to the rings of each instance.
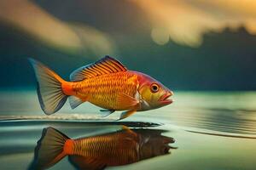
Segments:
[[[53,127],[45,128],[35,149],[31,169],[52,167],[65,156],[79,169],[104,169],[169,154],[175,140],[162,130],[124,129],[115,133],[70,139]]]

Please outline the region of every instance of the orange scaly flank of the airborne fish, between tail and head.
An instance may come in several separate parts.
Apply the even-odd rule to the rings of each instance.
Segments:
[[[138,82],[136,75],[123,71],[73,83],[73,90],[79,98],[86,98],[94,105],[119,111],[124,109],[118,103],[119,94],[134,97]]]

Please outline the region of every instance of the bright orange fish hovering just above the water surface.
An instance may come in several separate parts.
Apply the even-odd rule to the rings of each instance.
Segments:
[[[37,78],[38,100],[46,115],[59,111],[67,98],[72,109],[87,101],[103,108],[102,116],[123,111],[119,120],[173,102],[172,90],[153,77],[128,70],[108,55],[73,71],[69,82],[38,60],[29,60]]]

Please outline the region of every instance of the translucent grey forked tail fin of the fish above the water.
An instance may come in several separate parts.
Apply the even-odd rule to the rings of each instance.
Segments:
[[[35,59],[29,59],[38,79],[38,99],[46,115],[59,111],[67,100],[63,93],[61,83],[65,82],[54,71]]]

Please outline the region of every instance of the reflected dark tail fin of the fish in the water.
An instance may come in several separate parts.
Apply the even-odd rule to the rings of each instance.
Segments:
[[[35,149],[34,161],[29,169],[45,169],[55,165],[66,156],[64,144],[69,139],[53,127],[44,128]]]

